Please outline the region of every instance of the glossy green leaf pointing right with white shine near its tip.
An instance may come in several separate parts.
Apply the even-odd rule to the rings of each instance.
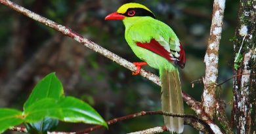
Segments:
[[[45,117],[56,118],[64,122],[83,122],[106,126],[100,114],[90,105],[75,97],[62,97],[60,100],[41,99],[25,109],[26,122],[38,122]]]

